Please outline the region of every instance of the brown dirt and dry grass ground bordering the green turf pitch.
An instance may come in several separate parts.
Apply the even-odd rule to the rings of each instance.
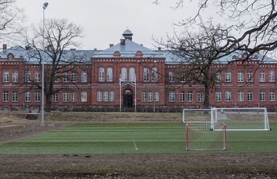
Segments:
[[[181,114],[0,112],[0,144],[80,121],[181,121]],[[5,126],[5,127],[3,127]],[[0,155],[0,178],[277,178],[276,153]]]

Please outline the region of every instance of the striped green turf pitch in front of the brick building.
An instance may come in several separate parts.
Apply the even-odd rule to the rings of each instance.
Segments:
[[[185,124],[177,122],[78,123],[0,146],[0,154],[276,153],[271,131],[227,131],[227,151],[186,151]]]

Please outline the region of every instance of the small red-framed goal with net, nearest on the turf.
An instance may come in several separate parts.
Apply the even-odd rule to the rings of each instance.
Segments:
[[[224,123],[186,123],[186,150],[227,150]]]

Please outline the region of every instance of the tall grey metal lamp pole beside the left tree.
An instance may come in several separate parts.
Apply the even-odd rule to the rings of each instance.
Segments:
[[[47,8],[48,3],[45,2],[42,6],[43,8],[43,18],[42,18],[42,124],[44,126],[44,10]]]

